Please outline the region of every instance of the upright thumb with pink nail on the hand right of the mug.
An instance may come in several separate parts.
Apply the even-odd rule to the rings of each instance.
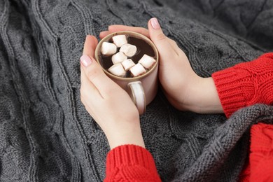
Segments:
[[[158,48],[160,58],[169,59],[169,57],[173,57],[176,52],[169,42],[169,38],[163,33],[157,18],[151,18],[148,21],[148,29],[151,40]]]

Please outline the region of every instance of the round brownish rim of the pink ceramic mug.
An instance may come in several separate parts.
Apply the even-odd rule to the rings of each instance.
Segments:
[[[116,35],[123,35],[123,34],[129,34],[129,35],[133,35],[134,37],[136,38],[141,38],[142,40],[146,41],[146,43],[148,43],[149,45],[151,45],[151,47],[153,48],[153,51],[155,52],[155,64],[153,65],[152,69],[150,69],[149,71],[147,71],[146,73],[144,73],[143,75],[141,76],[136,76],[136,77],[130,77],[130,78],[127,78],[127,77],[120,77],[120,76],[116,76],[116,75],[113,75],[111,73],[109,73],[109,71],[107,71],[106,69],[104,69],[104,67],[102,66],[102,64],[99,62],[99,54],[100,54],[100,49],[102,47],[102,43],[108,39],[110,39],[111,37],[113,36],[116,36]],[[151,74],[157,67],[158,67],[158,62],[159,62],[159,57],[158,57],[158,49],[156,48],[155,44],[153,43],[153,41],[151,41],[150,38],[142,35],[142,34],[139,34],[135,31],[116,31],[116,32],[113,32],[107,36],[105,36],[104,38],[102,38],[101,41],[99,41],[99,43],[97,44],[97,48],[95,49],[94,51],[94,58],[96,59],[96,61],[99,63],[99,65],[102,67],[102,69],[104,70],[104,73],[106,73],[107,76],[110,76],[112,78],[116,78],[118,80],[132,80],[132,81],[135,81],[135,80],[140,80],[141,78],[144,78],[146,76],[148,76],[149,74]]]

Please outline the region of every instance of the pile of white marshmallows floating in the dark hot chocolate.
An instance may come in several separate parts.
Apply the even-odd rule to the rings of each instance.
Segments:
[[[102,43],[101,52],[102,55],[105,56],[112,55],[113,66],[111,66],[108,71],[113,75],[124,77],[127,71],[130,71],[132,77],[141,76],[155,64],[155,59],[145,54],[139,59],[139,62],[135,64],[132,59],[128,59],[128,57],[133,57],[137,53],[137,47],[127,43],[127,37],[125,35],[113,36],[112,39],[113,43]],[[117,52],[118,48],[120,48],[119,52]]]

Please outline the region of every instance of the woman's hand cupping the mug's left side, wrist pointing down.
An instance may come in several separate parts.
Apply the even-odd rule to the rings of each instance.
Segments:
[[[123,144],[145,147],[137,107],[93,58],[97,43],[94,36],[85,39],[83,56],[80,57],[80,99],[106,134],[111,148]]]

